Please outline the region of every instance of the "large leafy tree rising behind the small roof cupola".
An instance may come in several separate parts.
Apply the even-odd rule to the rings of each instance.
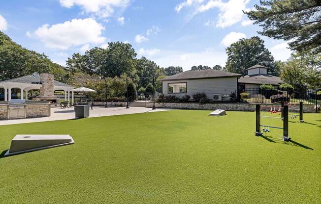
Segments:
[[[241,39],[226,48],[227,72],[247,75],[247,68],[256,64],[268,67],[267,73],[274,75],[274,58],[271,52],[264,47],[264,41],[255,36],[250,39]]]

